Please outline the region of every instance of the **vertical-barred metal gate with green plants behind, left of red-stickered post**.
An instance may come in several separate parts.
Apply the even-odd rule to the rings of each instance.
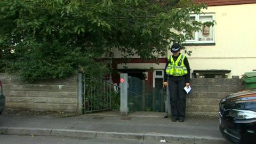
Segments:
[[[109,77],[82,76],[83,113],[111,109],[111,84]]]

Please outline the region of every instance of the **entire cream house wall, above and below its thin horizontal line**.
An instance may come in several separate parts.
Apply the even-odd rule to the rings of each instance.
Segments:
[[[228,78],[256,69],[256,4],[209,6],[215,13],[215,45],[186,46],[191,70],[227,69]],[[169,52],[171,54],[171,52]]]

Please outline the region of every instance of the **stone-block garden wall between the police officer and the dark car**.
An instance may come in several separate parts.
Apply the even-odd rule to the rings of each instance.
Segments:
[[[192,91],[187,94],[187,116],[217,118],[219,101],[230,93],[245,89],[238,76],[193,78],[190,82]]]

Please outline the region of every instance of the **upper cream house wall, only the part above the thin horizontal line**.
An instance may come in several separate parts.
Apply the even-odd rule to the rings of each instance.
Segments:
[[[187,46],[191,57],[202,57],[202,52],[210,58],[256,56],[256,4],[212,6],[205,12],[215,12],[216,45]]]

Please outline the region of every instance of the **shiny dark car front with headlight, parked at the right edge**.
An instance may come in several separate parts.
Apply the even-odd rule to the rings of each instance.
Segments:
[[[219,105],[220,131],[235,143],[256,143],[256,89],[233,93]]]

